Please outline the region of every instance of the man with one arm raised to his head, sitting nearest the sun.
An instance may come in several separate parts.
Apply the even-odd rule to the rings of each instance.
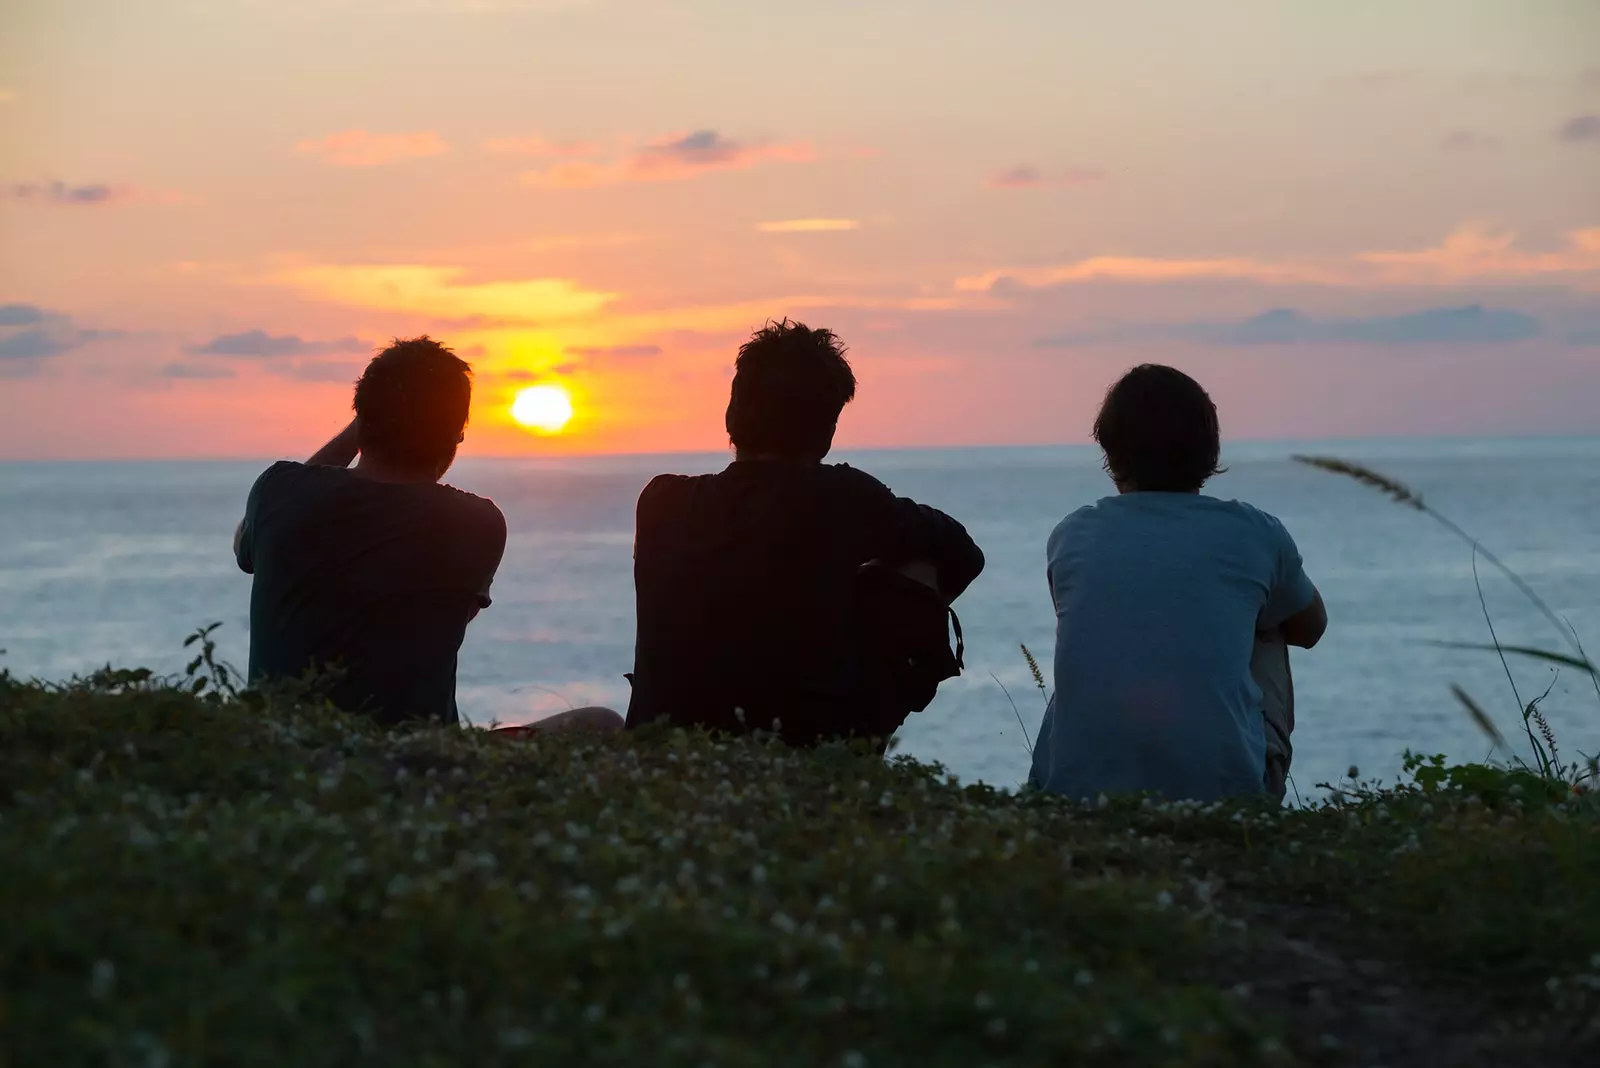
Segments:
[[[472,371],[427,336],[355,384],[355,419],[250,491],[234,534],[250,590],[250,678],[330,671],[328,697],[379,723],[458,723],[456,652],[506,548],[494,502],[438,480],[456,459]],[[349,467],[360,454],[360,462]],[[603,713],[603,715],[602,715]],[[563,721],[619,726],[605,710]]]

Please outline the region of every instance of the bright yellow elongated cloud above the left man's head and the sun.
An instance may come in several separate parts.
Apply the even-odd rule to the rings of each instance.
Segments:
[[[437,318],[488,317],[538,323],[594,315],[614,293],[584,289],[570,278],[467,281],[461,267],[354,264],[296,267],[277,277],[338,304]]]

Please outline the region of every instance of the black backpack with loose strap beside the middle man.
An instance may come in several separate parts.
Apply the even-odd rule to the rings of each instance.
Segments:
[[[872,727],[888,737],[906,716],[933,702],[939,683],[966,667],[962,620],[934,587],[878,561],[856,571],[854,592],[862,673],[883,716]]]

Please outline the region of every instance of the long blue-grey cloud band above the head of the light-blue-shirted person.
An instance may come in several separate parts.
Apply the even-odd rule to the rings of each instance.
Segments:
[[[1360,345],[1493,345],[1538,337],[1539,320],[1523,312],[1466,307],[1427,309],[1405,315],[1312,318],[1294,309],[1272,309],[1240,321],[1125,325],[1040,339],[1046,347],[1171,339],[1203,345],[1293,345],[1344,342]]]

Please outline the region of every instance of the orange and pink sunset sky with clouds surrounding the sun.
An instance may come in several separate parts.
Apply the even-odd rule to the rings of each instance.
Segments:
[[[309,452],[418,333],[469,454],[715,449],[784,315],[851,446],[1147,360],[1235,438],[1600,433],[1600,3],[0,5],[0,459]]]

